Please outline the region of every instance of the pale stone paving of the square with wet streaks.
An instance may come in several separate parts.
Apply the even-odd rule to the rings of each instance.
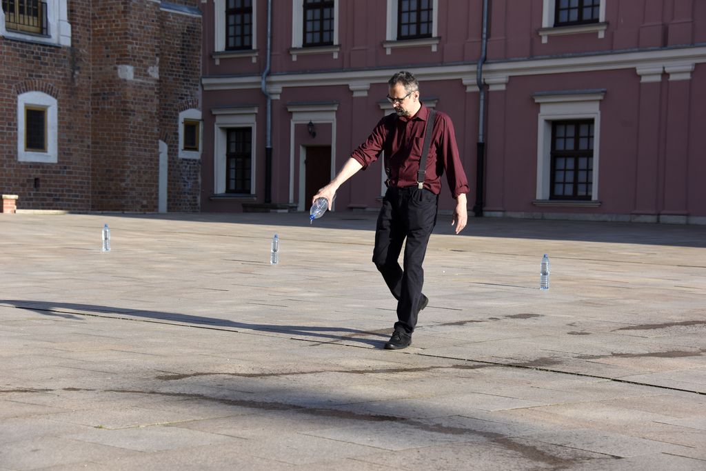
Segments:
[[[0,214],[0,470],[706,470],[706,227],[375,217]]]

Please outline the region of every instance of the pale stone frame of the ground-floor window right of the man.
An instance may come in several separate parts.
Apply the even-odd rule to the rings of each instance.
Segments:
[[[542,93],[534,95],[539,104],[537,119],[537,201],[549,200],[551,189],[551,124],[553,121],[569,119],[593,120],[593,184],[591,200],[598,201],[598,176],[601,148],[600,103],[605,92],[588,91],[575,93]],[[566,201],[558,201],[558,204]]]

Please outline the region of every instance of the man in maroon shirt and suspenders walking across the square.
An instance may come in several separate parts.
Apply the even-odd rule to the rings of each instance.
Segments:
[[[456,200],[451,221],[456,234],[466,226],[468,218],[468,182],[450,117],[430,110],[419,101],[419,83],[412,73],[397,72],[388,85],[388,100],[395,113],[378,122],[336,177],[313,196],[312,202],[323,197],[328,199],[330,207],[337,189],[385,152],[388,189],[378,216],[373,263],[397,299],[395,331],[385,343],[385,349],[399,350],[412,343],[419,311],[429,304],[429,298],[421,293],[422,263],[429,236],[436,225],[441,175],[446,172]],[[397,259],[405,239],[403,269]]]

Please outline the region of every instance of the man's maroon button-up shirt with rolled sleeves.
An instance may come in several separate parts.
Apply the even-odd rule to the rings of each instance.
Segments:
[[[384,150],[385,172],[390,179],[390,186],[416,186],[428,117],[429,108],[424,105],[413,117],[388,114],[378,122],[367,141],[353,151],[351,157],[366,169],[378,160]],[[468,193],[468,181],[458,154],[453,123],[448,114],[436,112],[429,156],[426,157],[424,188],[438,195],[444,171],[454,198],[460,193]]]

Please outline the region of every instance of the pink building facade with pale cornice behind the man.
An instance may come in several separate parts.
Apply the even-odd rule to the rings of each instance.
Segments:
[[[472,214],[706,224],[706,2],[271,4],[201,4],[201,210],[309,208],[409,70],[453,119]],[[335,210],[376,210],[383,180]]]

